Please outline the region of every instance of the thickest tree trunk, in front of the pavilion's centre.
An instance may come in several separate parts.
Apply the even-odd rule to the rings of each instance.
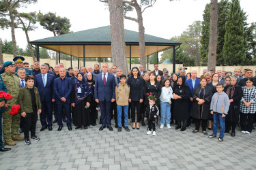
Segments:
[[[128,74],[126,58],[126,42],[124,40],[124,5],[121,0],[109,0],[109,15],[111,25],[111,52],[113,65],[122,67]]]

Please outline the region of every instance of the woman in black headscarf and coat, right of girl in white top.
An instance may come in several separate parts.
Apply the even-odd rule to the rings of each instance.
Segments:
[[[190,89],[185,84],[186,77],[180,75],[177,79],[177,85],[173,88],[173,99],[174,99],[174,119],[177,121],[175,129],[180,131],[186,130],[186,120],[189,116],[188,113],[188,96],[190,95]],[[181,123],[183,121],[183,124]],[[181,125],[182,124],[182,125]]]

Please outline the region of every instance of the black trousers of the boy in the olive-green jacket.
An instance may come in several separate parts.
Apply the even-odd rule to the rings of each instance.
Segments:
[[[27,113],[24,118],[24,137],[29,139],[29,131],[31,137],[35,136],[36,122],[38,121],[38,113]]]

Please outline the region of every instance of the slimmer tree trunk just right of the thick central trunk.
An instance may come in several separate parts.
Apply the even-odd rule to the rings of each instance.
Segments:
[[[137,12],[138,24],[139,24],[139,54],[141,56],[139,63],[143,65],[143,68],[146,68],[146,59],[145,59],[145,28],[143,27],[143,18],[141,7],[134,1],[134,7]]]

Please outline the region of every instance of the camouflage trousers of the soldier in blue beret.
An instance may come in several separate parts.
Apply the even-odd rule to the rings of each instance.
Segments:
[[[3,139],[9,141],[12,137],[18,136],[18,129],[20,127],[20,112],[15,115],[9,114],[11,109],[5,109],[3,112]]]

